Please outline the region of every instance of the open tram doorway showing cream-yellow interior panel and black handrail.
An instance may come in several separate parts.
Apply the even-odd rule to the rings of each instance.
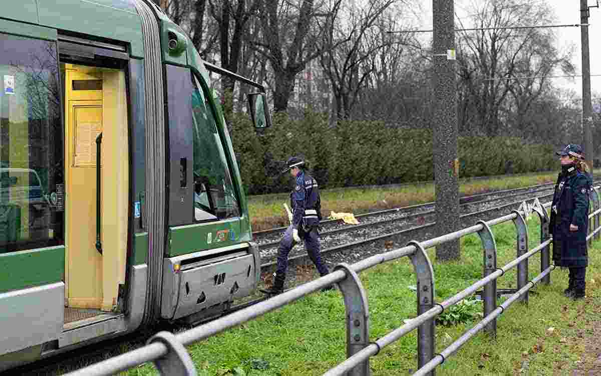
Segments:
[[[124,70],[78,64],[61,69],[67,324],[117,305],[126,267],[129,152]]]

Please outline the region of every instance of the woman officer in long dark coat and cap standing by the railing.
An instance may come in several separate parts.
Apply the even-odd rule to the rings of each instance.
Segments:
[[[569,144],[557,155],[560,155],[561,173],[555,185],[549,223],[553,235],[553,261],[556,267],[569,268],[569,285],[564,294],[577,300],[585,294],[588,194],[592,179],[582,147]]]

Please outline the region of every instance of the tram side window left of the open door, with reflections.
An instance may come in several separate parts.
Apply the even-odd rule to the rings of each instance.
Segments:
[[[0,253],[63,244],[56,43],[0,33]]]

